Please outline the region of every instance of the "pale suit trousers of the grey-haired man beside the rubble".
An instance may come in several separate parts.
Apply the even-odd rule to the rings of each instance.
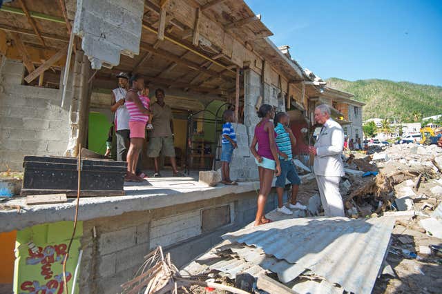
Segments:
[[[316,175],[320,202],[323,204],[324,213],[327,217],[344,216],[344,204],[339,193],[339,181],[340,177]]]

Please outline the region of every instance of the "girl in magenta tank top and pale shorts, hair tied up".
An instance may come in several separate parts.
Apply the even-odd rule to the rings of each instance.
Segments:
[[[275,129],[270,119],[275,116],[275,110],[269,104],[263,104],[258,110],[261,121],[255,127],[255,135],[250,150],[258,164],[260,175],[260,193],[258,195],[258,210],[256,211],[255,226],[271,222],[265,217],[264,208],[271,189],[271,182],[276,171],[280,175],[281,167],[278,157],[278,148],[275,143]],[[258,144],[258,151],[256,150]]]

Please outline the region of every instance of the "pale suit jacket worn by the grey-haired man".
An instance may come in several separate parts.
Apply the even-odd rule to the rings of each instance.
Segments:
[[[314,160],[315,175],[342,177],[344,175],[343,159],[340,155],[344,150],[343,128],[333,119],[328,119],[315,144]]]

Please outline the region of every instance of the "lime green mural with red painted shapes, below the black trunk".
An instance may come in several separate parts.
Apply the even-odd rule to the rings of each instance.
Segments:
[[[17,231],[14,293],[64,293],[63,260],[72,232],[73,222],[42,224]],[[83,223],[77,222],[66,264],[69,292],[73,287],[81,235]],[[75,293],[79,293],[78,285],[75,287]]]

